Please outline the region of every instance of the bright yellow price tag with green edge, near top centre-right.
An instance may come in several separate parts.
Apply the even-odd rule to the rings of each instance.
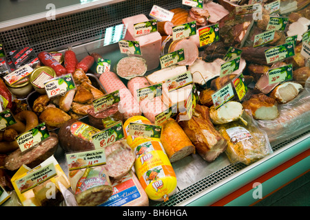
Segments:
[[[218,23],[199,28],[198,34],[200,47],[220,41],[220,29],[218,28]]]

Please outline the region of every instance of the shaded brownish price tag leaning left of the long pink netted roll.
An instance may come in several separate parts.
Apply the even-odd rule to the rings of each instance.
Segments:
[[[94,112],[97,113],[99,111],[103,111],[105,109],[108,109],[112,106],[112,104],[115,104],[117,102],[121,101],[121,97],[119,96],[119,91],[113,91],[110,94],[107,94],[105,96],[102,96],[101,98],[97,98],[96,100],[92,101],[92,104],[94,104]]]

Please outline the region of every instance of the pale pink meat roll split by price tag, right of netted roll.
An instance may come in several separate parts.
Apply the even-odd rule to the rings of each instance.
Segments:
[[[136,93],[137,89],[144,87],[149,87],[150,84],[145,77],[135,77],[128,81],[127,87],[131,91],[132,95],[138,101],[138,96]],[[145,98],[140,102],[140,107],[145,118],[150,120],[152,123],[155,122],[155,116],[162,113],[167,109],[167,106],[161,100],[161,96],[152,98],[149,100]]]

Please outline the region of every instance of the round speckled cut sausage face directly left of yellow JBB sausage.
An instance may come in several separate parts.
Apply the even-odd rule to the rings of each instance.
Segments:
[[[134,151],[125,139],[118,140],[105,147],[107,174],[114,179],[121,179],[126,175],[136,159]]]

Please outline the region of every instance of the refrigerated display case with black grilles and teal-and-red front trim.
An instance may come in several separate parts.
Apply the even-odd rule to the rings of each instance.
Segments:
[[[64,52],[71,47],[78,60],[97,52],[113,65],[125,55],[119,52],[117,38],[105,43],[109,28],[116,30],[125,17],[148,15],[153,5],[167,10],[189,8],[176,0],[3,1],[0,43],[6,52],[27,45],[35,52]],[[14,13],[8,10],[12,8]],[[280,142],[271,142],[273,153],[248,166],[231,164],[225,154],[211,163],[198,154],[189,155],[172,163],[177,192],[168,201],[150,200],[149,205],[250,206],[309,171],[309,135],[310,124],[306,124]],[[68,173],[63,155],[58,148],[55,157]]]

